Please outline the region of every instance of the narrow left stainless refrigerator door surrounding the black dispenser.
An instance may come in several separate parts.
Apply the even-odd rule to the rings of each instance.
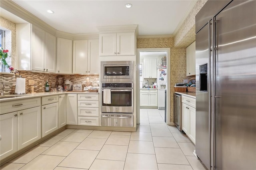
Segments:
[[[209,70],[210,59],[209,23],[196,34],[196,154],[210,169],[210,79],[207,79],[208,91],[200,91],[200,65],[207,63]],[[210,75],[210,74],[209,74]]]

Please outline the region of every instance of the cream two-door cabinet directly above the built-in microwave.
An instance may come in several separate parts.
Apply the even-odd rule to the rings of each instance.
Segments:
[[[135,55],[135,32],[100,34],[100,56]]]

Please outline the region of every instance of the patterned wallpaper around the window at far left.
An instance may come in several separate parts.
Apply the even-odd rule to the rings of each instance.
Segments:
[[[2,30],[10,30],[11,34],[6,34],[6,49],[9,50],[9,55],[12,58],[12,66],[17,68],[17,52],[16,52],[16,24],[6,20],[5,18],[0,17],[0,29]],[[10,45],[11,44],[11,45]],[[12,47],[10,47],[12,46]]]

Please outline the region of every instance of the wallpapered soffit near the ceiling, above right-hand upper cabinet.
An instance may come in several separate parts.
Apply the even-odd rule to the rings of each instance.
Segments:
[[[188,47],[188,45],[196,40],[195,16],[206,2],[207,0],[197,0],[195,6],[192,8],[182,26],[180,26],[178,32],[174,36],[175,47]]]

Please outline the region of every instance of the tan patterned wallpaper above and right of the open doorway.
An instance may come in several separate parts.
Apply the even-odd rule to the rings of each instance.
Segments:
[[[174,84],[186,77],[186,48],[174,47],[174,38],[138,38],[137,48],[170,48],[170,122],[173,122]]]

